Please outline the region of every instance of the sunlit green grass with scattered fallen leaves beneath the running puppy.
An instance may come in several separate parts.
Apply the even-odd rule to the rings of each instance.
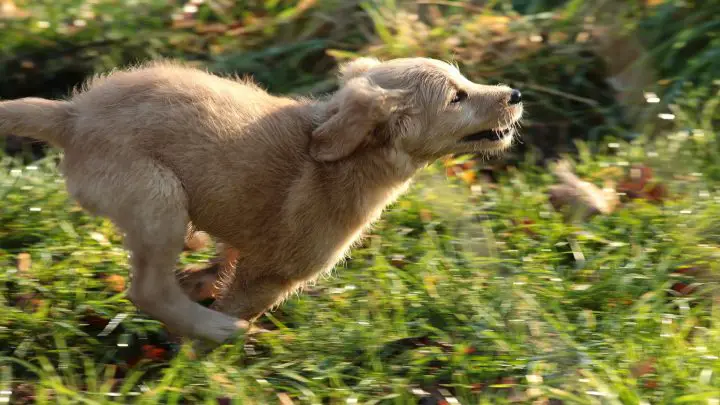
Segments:
[[[127,274],[121,239],[68,200],[52,159],[6,159],[0,389],[31,387],[38,403],[263,404],[285,393],[405,404],[423,390],[463,404],[716,404],[720,194],[700,151],[718,140],[712,129],[683,134],[596,154],[581,146],[585,178],[644,162],[670,189],[663,204],[628,202],[585,224],[552,210],[544,169],[521,166],[471,192],[438,163],[346,265],[261,319],[271,332],[206,358],[109,288],[103,277]],[[699,275],[677,271],[688,267]],[[679,293],[679,282],[698,288]],[[103,333],[111,319],[119,325]],[[166,355],[135,363],[148,344]]]

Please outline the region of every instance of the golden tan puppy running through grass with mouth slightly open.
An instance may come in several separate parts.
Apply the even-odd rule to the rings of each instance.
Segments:
[[[508,148],[523,111],[519,91],[433,59],[362,58],[339,79],[327,98],[287,98],[155,62],[65,101],[1,102],[0,135],[62,148],[70,195],[125,234],[129,299],[221,342],[331,269],[419,169]],[[188,226],[234,252],[211,308],[173,273]]]

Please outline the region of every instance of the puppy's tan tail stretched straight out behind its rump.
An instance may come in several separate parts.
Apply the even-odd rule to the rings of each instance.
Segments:
[[[18,135],[64,147],[70,136],[71,104],[43,98],[0,101],[0,136]]]

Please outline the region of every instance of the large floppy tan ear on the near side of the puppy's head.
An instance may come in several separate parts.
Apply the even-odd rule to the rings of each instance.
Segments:
[[[383,89],[367,77],[351,79],[328,102],[327,118],[312,133],[310,155],[321,162],[349,156],[404,108],[406,97],[405,91]]]

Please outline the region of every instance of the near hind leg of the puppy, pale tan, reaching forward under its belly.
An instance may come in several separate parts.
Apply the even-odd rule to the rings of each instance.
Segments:
[[[153,161],[76,160],[66,165],[68,190],[97,215],[109,217],[124,233],[131,252],[128,296],[171,331],[222,342],[247,323],[190,300],[175,279],[188,223],[180,180]],[[122,164],[122,167],[120,167]]]

